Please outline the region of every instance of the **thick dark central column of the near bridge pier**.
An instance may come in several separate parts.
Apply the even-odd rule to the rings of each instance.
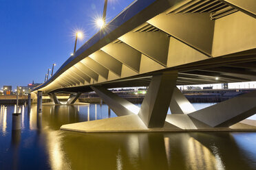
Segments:
[[[147,127],[163,127],[177,77],[177,71],[153,75],[138,114]]]

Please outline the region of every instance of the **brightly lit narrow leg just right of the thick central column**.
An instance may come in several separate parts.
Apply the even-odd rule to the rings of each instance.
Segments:
[[[189,114],[196,111],[189,100],[186,99],[186,97],[177,87],[173,89],[170,110],[171,114]]]

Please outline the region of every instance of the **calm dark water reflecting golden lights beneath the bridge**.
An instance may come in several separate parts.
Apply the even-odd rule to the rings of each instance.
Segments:
[[[83,134],[59,127],[116,115],[99,104],[21,110],[14,132],[14,106],[1,106],[0,169],[256,169],[256,132]]]

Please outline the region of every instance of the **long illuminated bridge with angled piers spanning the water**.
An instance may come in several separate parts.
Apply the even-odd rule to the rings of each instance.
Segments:
[[[134,1],[34,93],[74,104],[94,90],[118,115],[63,130],[230,130],[256,113],[256,92],[195,110],[176,86],[255,81],[255,30],[254,0]],[[107,90],[134,86],[149,86],[140,108]]]

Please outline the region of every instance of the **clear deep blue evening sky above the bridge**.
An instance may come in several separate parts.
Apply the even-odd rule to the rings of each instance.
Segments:
[[[109,0],[107,21],[134,0]],[[85,37],[98,28],[94,18],[102,16],[104,0],[0,0],[0,87],[41,83],[47,69],[54,72],[74,50],[74,30]]]

